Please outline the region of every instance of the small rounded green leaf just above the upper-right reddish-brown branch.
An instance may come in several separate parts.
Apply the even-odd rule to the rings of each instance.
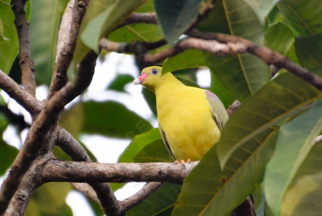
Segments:
[[[270,25],[265,32],[265,42],[267,46],[282,55],[288,53],[293,41],[292,31],[289,27],[280,22]]]

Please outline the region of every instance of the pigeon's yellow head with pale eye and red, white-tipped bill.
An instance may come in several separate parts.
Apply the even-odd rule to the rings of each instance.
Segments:
[[[162,67],[151,66],[146,67],[142,70],[141,76],[133,81],[134,84],[141,84],[152,92],[162,82]]]

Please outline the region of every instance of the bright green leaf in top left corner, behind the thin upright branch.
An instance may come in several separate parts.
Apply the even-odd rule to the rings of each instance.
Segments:
[[[30,1],[26,2],[26,18],[29,20],[30,15]],[[0,1],[0,20],[2,34],[0,41],[0,69],[8,74],[14,58],[19,49],[18,36],[16,27],[14,25],[14,12],[11,10],[10,0]]]

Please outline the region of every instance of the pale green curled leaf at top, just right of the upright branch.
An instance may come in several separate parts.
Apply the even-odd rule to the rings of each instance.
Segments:
[[[116,25],[118,25],[126,18],[126,16],[128,16],[138,6],[142,5],[145,1],[146,0],[116,0],[113,4],[105,3],[104,6],[106,6],[106,9],[93,19],[89,20],[84,31],[81,33],[82,42],[98,53],[99,39],[109,34]]]

